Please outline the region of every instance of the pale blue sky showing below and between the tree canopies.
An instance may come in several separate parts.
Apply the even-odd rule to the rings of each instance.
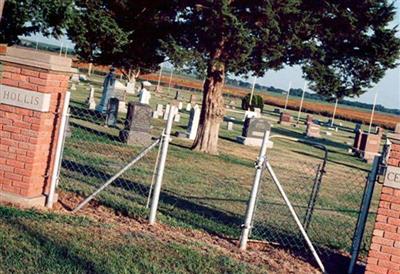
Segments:
[[[400,25],[400,0],[395,1],[397,8],[396,18],[393,25]],[[400,33],[399,33],[400,36]],[[61,40],[48,39],[42,35],[29,37],[30,40],[38,40],[40,42],[47,42],[51,44],[60,45],[61,40],[64,46],[73,47],[71,41],[66,38]],[[400,62],[400,61],[399,61]],[[251,79],[248,80],[252,82]],[[274,86],[277,88],[287,89],[289,82],[292,82],[292,88],[303,88],[304,79],[300,67],[286,67],[278,72],[268,72],[264,77],[257,79],[257,83],[265,86]],[[373,103],[375,94],[378,93],[377,103],[385,107],[400,109],[400,68],[389,70],[386,72],[385,77],[372,89],[356,98],[355,100],[364,103]]]

